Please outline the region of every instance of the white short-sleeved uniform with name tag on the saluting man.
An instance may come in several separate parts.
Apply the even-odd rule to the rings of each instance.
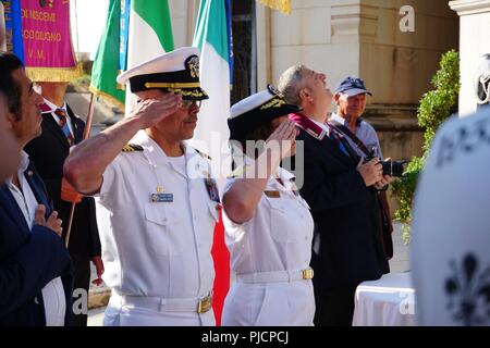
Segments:
[[[114,159],[97,198],[103,281],[112,288],[105,325],[215,325],[212,309],[196,311],[215,278],[219,199],[208,194],[210,165],[184,144],[180,165],[143,130],[131,144],[143,151]]]

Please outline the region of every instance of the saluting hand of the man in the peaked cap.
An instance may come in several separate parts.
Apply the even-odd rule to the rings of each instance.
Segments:
[[[142,121],[142,129],[149,128],[179,110],[181,95],[161,94],[155,90],[155,97],[140,99],[131,111],[131,116]]]

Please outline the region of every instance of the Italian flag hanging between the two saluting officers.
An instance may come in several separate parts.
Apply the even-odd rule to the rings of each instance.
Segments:
[[[212,170],[221,189],[224,184],[224,176],[220,175],[223,173],[223,149],[226,149],[230,138],[226,123],[232,76],[230,14],[230,0],[201,0],[193,42],[200,50],[200,85],[209,99],[200,107],[192,144],[213,159]],[[212,307],[217,325],[220,325],[224,297],[230,287],[230,256],[221,220],[215,228],[211,252],[216,272]]]

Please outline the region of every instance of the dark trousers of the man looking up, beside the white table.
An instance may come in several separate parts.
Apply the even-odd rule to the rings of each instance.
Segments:
[[[335,289],[315,287],[315,326],[352,326],[356,286]]]

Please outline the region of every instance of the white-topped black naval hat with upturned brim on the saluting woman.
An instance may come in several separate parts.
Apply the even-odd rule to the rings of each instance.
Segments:
[[[247,140],[247,134],[259,126],[301,110],[296,105],[289,104],[279,90],[268,85],[266,90],[252,95],[231,108],[231,115],[228,120],[230,139]]]

